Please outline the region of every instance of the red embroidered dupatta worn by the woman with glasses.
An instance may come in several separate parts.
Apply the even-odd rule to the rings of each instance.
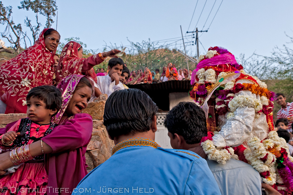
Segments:
[[[15,58],[4,62],[0,69],[0,99],[7,104],[5,114],[26,113],[28,92],[41,85],[51,85],[55,51],[45,45],[45,28],[35,44]]]

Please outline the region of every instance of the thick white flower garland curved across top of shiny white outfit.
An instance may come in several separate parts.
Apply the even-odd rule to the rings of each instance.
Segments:
[[[231,112],[236,111],[237,108],[248,106],[254,108],[255,112],[259,112],[262,109],[262,103],[256,98],[250,98],[247,95],[235,96],[228,104]]]

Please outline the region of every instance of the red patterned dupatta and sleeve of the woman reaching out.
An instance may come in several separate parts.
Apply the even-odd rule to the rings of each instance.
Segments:
[[[60,60],[56,71],[56,80],[59,83],[63,78],[73,74],[91,76],[95,82],[97,82],[97,76],[92,69],[93,66],[103,62],[97,54],[90,56],[89,58],[79,58],[78,48],[80,44],[74,41],[68,42],[61,54]],[[87,66],[89,64],[89,66]]]

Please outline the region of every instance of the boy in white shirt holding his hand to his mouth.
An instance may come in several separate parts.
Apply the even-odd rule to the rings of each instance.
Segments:
[[[95,89],[95,96],[99,97],[101,94],[107,94],[108,97],[116,90],[124,89],[120,82],[120,75],[124,68],[124,62],[121,58],[112,58],[108,62],[109,74],[106,76],[97,77],[97,86]]]

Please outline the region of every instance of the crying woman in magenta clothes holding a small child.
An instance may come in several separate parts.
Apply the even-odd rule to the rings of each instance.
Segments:
[[[58,126],[42,138],[42,143],[38,140],[29,144],[29,152],[32,157],[45,154],[47,194],[58,194],[53,191],[57,188],[68,189],[59,193],[63,195],[71,194],[69,192],[87,174],[85,151],[92,135],[92,117],[81,112],[88,106],[92,85],[85,76],[70,75],[58,87],[63,99],[60,111],[53,118]],[[0,131],[3,133],[6,128]],[[0,175],[13,165],[9,152],[0,154]],[[34,185],[28,182],[28,186]]]

